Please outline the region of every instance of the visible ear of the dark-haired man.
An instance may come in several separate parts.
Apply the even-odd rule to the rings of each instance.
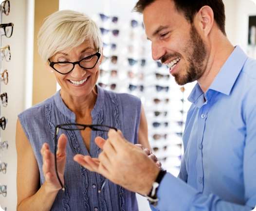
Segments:
[[[203,6],[194,18],[194,24],[198,25],[199,30],[208,36],[214,24],[214,13],[211,7]]]

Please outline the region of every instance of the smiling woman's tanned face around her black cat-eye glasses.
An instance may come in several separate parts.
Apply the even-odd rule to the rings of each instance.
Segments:
[[[96,50],[93,45],[93,41],[86,40],[77,47],[74,47],[72,49],[65,49],[61,52],[56,53],[50,58],[50,61],[76,62],[96,53],[97,51],[98,50]],[[72,97],[86,97],[91,93],[97,82],[99,76],[99,65],[102,61],[102,57],[103,56],[101,55],[93,69],[81,68],[78,64],[76,64],[74,66],[74,69],[65,75],[55,71],[49,65],[48,67],[50,70],[54,70],[56,80],[61,87],[62,93],[65,92],[65,94],[71,95]],[[55,65],[54,67],[57,67],[58,69],[65,68],[64,65]]]

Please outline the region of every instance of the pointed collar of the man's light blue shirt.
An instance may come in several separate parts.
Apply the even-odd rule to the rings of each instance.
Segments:
[[[247,58],[248,56],[243,50],[239,46],[236,46],[207,92],[211,89],[229,95]],[[188,100],[191,103],[195,103],[202,94],[203,91],[197,83],[191,91]]]

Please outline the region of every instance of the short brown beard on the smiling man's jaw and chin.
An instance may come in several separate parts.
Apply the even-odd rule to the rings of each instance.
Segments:
[[[205,71],[206,47],[193,24],[190,29],[190,39],[184,49],[188,52],[189,67],[184,74],[182,72],[173,74],[176,83],[181,86],[198,80]]]

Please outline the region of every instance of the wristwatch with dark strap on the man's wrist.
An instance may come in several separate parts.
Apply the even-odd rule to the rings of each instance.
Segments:
[[[159,184],[162,181],[162,179],[164,178],[165,174],[166,174],[166,170],[160,169],[160,172],[159,172],[158,176],[156,177],[156,180],[152,184],[151,191],[148,193],[148,195],[146,195],[147,200],[153,206],[156,206],[157,202],[159,201],[159,199],[157,197],[157,190],[158,190]]]

